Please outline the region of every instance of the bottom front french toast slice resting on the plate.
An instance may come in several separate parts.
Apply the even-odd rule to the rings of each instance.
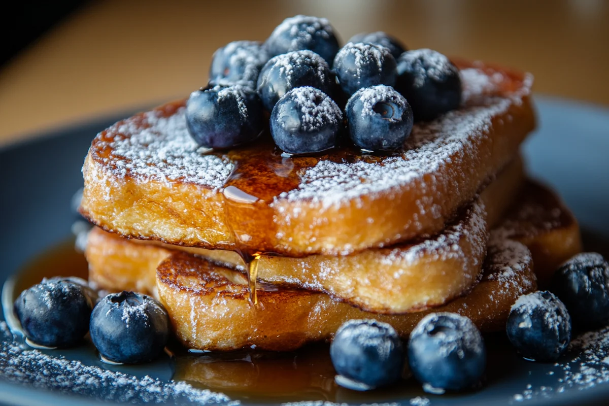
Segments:
[[[528,248],[504,240],[489,247],[481,282],[468,295],[435,309],[400,315],[365,312],[325,293],[261,284],[258,306],[248,300],[245,276],[201,257],[176,252],[157,269],[158,295],[178,339],[191,349],[230,351],[252,345],[290,351],[329,340],[343,322],[376,318],[407,337],[429,312],[457,312],[482,331],[505,328],[519,295],[537,287]]]

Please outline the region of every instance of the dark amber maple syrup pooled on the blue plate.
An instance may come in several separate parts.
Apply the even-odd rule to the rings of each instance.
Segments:
[[[22,290],[53,276],[86,279],[88,264],[74,250],[74,241],[52,247],[33,259],[15,277],[12,300]],[[259,289],[274,290],[261,282]],[[340,401],[378,402],[417,396],[420,386],[412,379],[390,389],[357,393],[334,383],[334,368],[326,343],[306,346],[294,352],[254,349],[226,353],[189,352],[176,341],[170,345],[175,357],[174,380],[186,380],[200,388],[221,391],[234,399],[250,401]],[[94,351],[91,348],[91,351]],[[130,366],[116,366],[116,370]]]

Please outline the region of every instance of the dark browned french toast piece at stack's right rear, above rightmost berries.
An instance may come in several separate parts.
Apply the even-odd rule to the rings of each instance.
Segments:
[[[529,247],[540,287],[549,284],[558,265],[582,252],[576,217],[552,189],[532,180],[524,184],[491,238],[509,238]]]

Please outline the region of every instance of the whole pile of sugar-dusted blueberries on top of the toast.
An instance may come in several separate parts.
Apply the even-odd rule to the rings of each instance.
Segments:
[[[414,120],[434,119],[461,100],[459,70],[444,55],[407,51],[384,32],[355,35],[339,49],[326,19],[303,15],[285,19],[264,43],[218,49],[209,77],[189,97],[186,122],[201,146],[220,150],[270,128],[288,154],[322,152],[342,138],[392,151]]]

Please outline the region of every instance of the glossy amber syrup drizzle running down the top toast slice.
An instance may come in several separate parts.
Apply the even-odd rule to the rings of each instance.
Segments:
[[[258,303],[258,259],[263,255],[276,255],[273,252],[276,225],[273,208],[270,207],[275,197],[298,187],[301,173],[319,161],[354,163],[380,162],[382,159],[348,145],[317,156],[286,156],[275,147],[268,131],[249,147],[216,152],[216,155],[226,157],[234,164],[233,172],[222,187],[225,224],[233,234],[234,251],[245,263],[252,304]]]

